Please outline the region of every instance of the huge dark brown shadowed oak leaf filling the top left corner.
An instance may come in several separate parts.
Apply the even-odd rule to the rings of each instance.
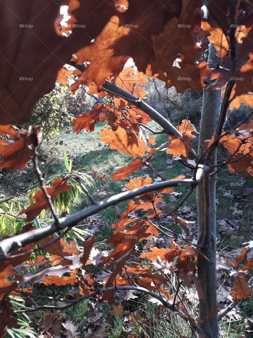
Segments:
[[[89,45],[115,14],[107,1],[75,3],[78,6],[72,10],[78,25],[72,26],[69,38],[59,34],[59,27],[55,25],[62,1],[52,1],[47,6],[40,0],[15,5],[6,0],[0,3],[5,18],[2,29],[8,31],[2,39],[4,49],[0,55],[2,124],[29,121],[34,104],[54,88],[58,70],[74,52]]]

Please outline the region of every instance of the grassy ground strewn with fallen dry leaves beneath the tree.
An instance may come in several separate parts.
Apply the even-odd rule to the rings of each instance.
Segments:
[[[155,123],[150,122],[149,125],[153,128]],[[65,150],[68,161],[72,160],[73,170],[87,173],[94,179],[89,192],[92,198],[97,201],[120,191],[126,191],[127,188],[125,186],[131,184],[133,178],[141,177],[141,179],[146,179],[150,177],[153,182],[161,180],[156,173],[146,166],[140,167],[137,172],[122,181],[105,178],[118,171],[118,168],[128,165],[131,158],[122,152],[109,149],[107,144],[101,142],[99,132],[101,129],[102,122],[99,122],[92,133],[81,131],[78,136],[76,134],[63,135],[64,142],[67,145],[48,148],[48,145],[44,144],[39,153],[39,166],[45,179],[47,180],[53,174],[63,171],[63,150]],[[162,143],[163,138],[165,141],[165,135],[157,135],[155,137],[158,141],[157,143]],[[186,177],[192,176],[192,171],[188,167],[182,167],[178,160],[172,160],[171,157],[169,154],[165,154],[164,151],[158,152],[152,165],[155,171],[169,178],[182,174]],[[218,157],[223,158],[224,153],[218,152]],[[2,199],[24,194],[36,183],[32,165],[28,164],[27,168],[11,173],[7,180],[2,180],[1,183]],[[6,194],[6,191],[9,192],[9,195]],[[177,187],[173,192],[163,196],[164,201],[162,203],[164,205],[169,204],[173,209],[186,196],[188,191],[188,187]],[[218,250],[222,257],[228,261],[236,260],[236,256],[241,252],[242,243],[253,240],[252,194],[252,183],[250,183],[249,179],[244,178],[243,174],[232,174],[226,168],[219,171],[216,200]],[[70,213],[90,204],[85,195],[80,195],[79,199],[78,202],[72,201],[69,208]],[[78,224],[80,229],[85,232],[85,235],[83,234],[82,236],[85,239],[89,239],[95,235],[97,237],[96,248],[100,250],[108,248],[108,244],[105,242],[113,233],[112,224],[115,225],[119,222],[120,215],[126,210],[126,207],[127,202],[122,202],[83,220]],[[197,240],[196,211],[195,193],[176,211],[176,215],[186,221],[193,242]],[[142,211],[138,210],[130,212],[129,217],[135,218],[141,216],[141,214]],[[163,226],[178,234],[173,236],[178,245],[184,243],[180,235],[179,225],[173,223],[170,217],[163,219]],[[76,237],[76,240],[81,245],[82,241],[78,237]],[[170,238],[161,233],[159,237],[152,236],[145,244],[145,247],[142,243],[138,245],[140,251],[154,245],[158,248],[165,248],[169,241]],[[252,252],[248,252],[245,260],[249,259],[251,255]],[[223,305],[232,301],[230,286],[227,283],[227,272],[224,271],[224,260],[220,259],[218,261],[218,268],[217,282],[220,285],[218,302]],[[38,294],[56,298],[67,297],[67,299],[75,299],[78,289],[73,286],[45,287],[41,285],[35,291]],[[184,295],[189,304],[191,304],[193,313],[198,303],[198,296],[195,291],[194,289],[186,289],[186,294]],[[54,305],[57,304],[55,300],[52,302]],[[41,301],[41,304],[43,304],[43,301]],[[252,296],[242,300],[240,306],[235,308],[221,322],[221,337],[239,337],[241,334],[252,334],[252,306]],[[121,299],[116,299],[112,307],[109,305],[98,307],[93,312],[92,317],[85,321],[84,317],[88,315],[89,310],[93,309],[93,307],[94,304],[91,301],[85,300],[73,309],[67,309],[60,313],[50,314],[45,312],[43,315],[44,320],[41,320],[39,316],[36,317],[35,313],[30,316],[37,320],[36,331],[40,332],[40,337],[44,337],[45,332],[48,332],[51,336],[65,335],[69,338],[78,337],[79,335],[92,337],[90,333],[94,331],[97,332],[94,337],[104,337],[105,332],[107,332],[108,337],[127,337],[130,334],[129,327],[134,327],[135,334],[140,337],[174,337],[175,330],[180,332],[185,330],[185,328],[182,329],[183,324],[180,318],[171,320],[168,314],[163,314],[160,317],[154,314],[159,307],[157,300],[134,294],[131,291],[121,295]],[[103,314],[106,314],[106,317]],[[59,321],[59,316],[63,316],[65,323]],[[142,324],[139,325],[137,322]],[[157,327],[158,323],[159,328]]]

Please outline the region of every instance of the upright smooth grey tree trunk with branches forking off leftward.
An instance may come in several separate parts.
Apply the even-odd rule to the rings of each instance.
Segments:
[[[217,62],[214,54],[213,44],[210,45],[208,63]],[[203,106],[199,133],[198,155],[201,155],[202,143],[210,139],[218,124],[221,106],[221,90],[203,90]],[[216,165],[216,150],[213,153],[209,164]],[[214,169],[211,169],[214,171]],[[206,260],[200,254],[198,259],[198,278],[202,281],[202,288],[205,299],[199,300],[199,320],[206,318],[211,310],[217,306],[216,295],[216,176],[209,176],[210,172],[205,172],[203,179],[197,187],[197,209],[198,209],[198,244],[204,248],[200,253],[207,257]],[[202,323],[201,328],[209,337],[218,338],[218,318],[214,315],[206,323]]]

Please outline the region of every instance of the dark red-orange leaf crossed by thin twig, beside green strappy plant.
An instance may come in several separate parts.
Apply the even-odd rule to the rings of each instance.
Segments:
[[[51,196],[51,200],[54,201],[56,195],[61,192],[66,192],[72,189],[72,185],[67,184],[68,178],[64,180],[61,178],[54,180],[54,185],[52,187],[46,187],[47,193]],[[47,209],[47,201],[45,199],[44,193],[41,189],[39,189],[31,199],[36,199],[35,203],[32,203],[27,209],[19,212],[19,215],[26,214],[26,221],[32,221],[35,217],[39,215],[41,210]]]

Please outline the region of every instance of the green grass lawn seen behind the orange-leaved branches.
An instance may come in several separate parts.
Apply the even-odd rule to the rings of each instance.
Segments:
[[[154,129],[156,123],[150,122],[149,126]],[[132,158],[129,155],[126,155],[117,150],[111,150],[109,146],[99,139],[101,137],[100,130],[104,128],[104,123],[100,122],[95,125],[95,130],[92,133],[87,133],[81,131],[79,135],[65,134],[62,136],[62,139],[66,145],[59,146],[53,153],[50,150],[40,151],[39,153],[39,166],[41,172],[45,174],[45,179],[47,180],[52,174],[59,173],[64,171],[64,160],[63,160],[63,151],[65,150],[68,156],[68,160],[72,160],[72,167],[75,170],[84,172],[88,175],[91,175],[94,179],[92,186],[89,188],[91,195],[100,194],[101,197],[95,197],[95,200],[102,200],[114,194],[120,193],[124,189],[124,185],[129,182],[129,179],[124,181],[116,180],[111,181],[107,179],[104,181],[104,177],[110,173],[118,171],[119,168],[128,165]],[[157,135],[155,137],[157,146],[166,141],[166,135]],[[153,146],[156,147],[156,146]],[[41,150],[46,148],[46,144],[41,146]],[[219,155],[219,154],[218,154]],[[222,156],[222,154],[220,154]],[[186,175],[186,177],[191,176],[191,171],[188,168],[182,166],[178,161],[169,161],[171,156],[166,154],[165,151],[158,151],[153,158],[154,169],[157,172],[160,172],[163,176],[168,178],[173,178],[180,174]],[[168,160],[166,162],[166,160]],[[4,172],[5,174],[5,172]],[[130,174],[131,176],[138,177],[143,175],[150,175],[153,180],[156,176],[149,168],[139,168],[135,173]],[[237,237],[228,236],[225,232],[219,232],[220,226],[222,225],[222,220],[219,220],[217,223],[217,234],[220,236],[218,242],[219,251],[226,255],[228,252],[234,251],[237,252],[238,248],[242,247],[242,243],[249,240],[249,231],[248,228],[252,222],[252,197],[251,195],[242,195],[242,190],[245,187],[251,187],[252,184],[250,180],[246,179],[243,187],[238,185],[238,178],[243,177],[243,174],[234,175],[226,168],[223,168],[217,177],[217,214],[224,212],[228,214],[231,220],[242,220],[238,226]],[[27,181],[27,178],[28,181]],[[1,185],[5,188],[4,191],[7,191],[3,197],[11,197],[13,192],[19,192],[20,186],[23,182],[28,182],[33,184],[34,173],[31,164],[29,163],[26,168],[23,170],[15,171],[11,173],[7,179],[1,179]],[[236,185],[237,184],[237,185]],[[230,191],[230,193],[229,193]],[[8,193],[9,192],[9,193]],[[163,200],[169,204],[173,209],[176,205],[185,197],[187,190],[182,187],[174,188],[174,192],[182,193],[181,195],[173,196],[171,194],[164,195]],[[232,195],[233,196],[232,196]],[[232,197],[231,197],[232,196]],[[196,207],[194,206],[194,200],[196,199],[196,193],[194,192],[190,198],[184,203],[185,207],[188,207],[187,212],[181,213],[181,217],[186,219],[196,221]],[[89,200],[85,195],[80,194],[80,201],[78,203],[72,203],[69,208],[70,213],[76,212],[85,206],[90,204]],[[115,208],[119,208],[122,212],[126,209],[127,202],[121,202],[117,206],[112,206],[106,210],[101,211],[100,215],[104,221],[104,225],[96,236],[98,237],[98,242],[104,242],[111,234],[112,229],[110,228],[111,224],[115,223],[118,219],[118,215],[115,212]],[[190,216],[189,214],[192,213]],[[195,229],[197,228],[197,223]],[[175,231],[180,233],[180,227],[176,226]],[[163,236],[163,235],[161,235]],[[238,253],[238,252],[237,252]],[[43,288],[41,291],[47,292],[46,288]],[[52,291],[54,292],[54,288]],[[57,289],[57,294],[61,294],[61,290]],[[72,320],[77,323],[82,322],[84,316],[88,313],[87,301],[83,301],[78,304],[73,309],[67,309],[66,315],[70,316]],[[247,299],[247,301],[241,302],[241,311],[245,316],[249,316],[250,311],[252,311],[252,299]],[[196,314],[196,303],[192,304],[193,314]],[[136,299],[131,299],[126,301],[123,304],[123,313],[130,314],[133,311],[138,311],[142,318],[145,318],[146,315],[149,315],[151,318],[155,316],[157,309],[156,304],[150,303],[146,296],[139,296]],[[104,313],[110,312],[111,307],[105,306],[103,308]],[[146,321],[143,325],[137,326],[135,328],[135,334],[138,337],[144,337],[147,334],[147,337],[175,337],[175,330],[184,332],[186,335],[191,335],[190,332],[185,331],[185,324],[179,318],[179,316],[174,316],[177,318],[151,318]],[[123,329],[123,318],[124,315],[118,315],[113,317],[113,327],[108,331],[108,337],[127,337],[128,333]],[[221,323],[221,330],[223,334],[221,337],[237,337],[237,329],[240,329],[240,325],[243,324],[243,321],[230,320],[229,324],[227,319],[225,322]],[[157,325],[159,323],[159,325]],[[236,330],[235,330],[236,327]],[[240,332],[240,330],[238,331]]]

